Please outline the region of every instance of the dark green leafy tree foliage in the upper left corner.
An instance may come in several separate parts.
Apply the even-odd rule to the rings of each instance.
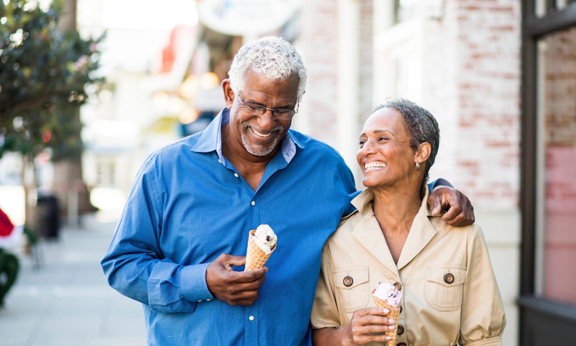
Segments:
[[[0,0],[0,157],[6,151],[53,159],[82,151],[78,107],[85,86],[100,82],[96,39],[61,32],[55,0],[44,11],[28,1]]]

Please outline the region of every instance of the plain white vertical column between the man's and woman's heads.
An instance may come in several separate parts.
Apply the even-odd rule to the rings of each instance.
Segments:
[[[336,149],[358,178],[356,163],[358,141],[359,59],[360,59],[359,0],[338,1],[338,114],[336,116]]]

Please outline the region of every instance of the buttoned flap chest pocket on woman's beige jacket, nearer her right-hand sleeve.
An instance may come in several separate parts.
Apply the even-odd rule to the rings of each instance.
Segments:
[[[466,282],[466,267],[459,265],[427,265],[426,268],[426,291],[430,306],[438,311],[460,309],[462,306],[462,291]]]

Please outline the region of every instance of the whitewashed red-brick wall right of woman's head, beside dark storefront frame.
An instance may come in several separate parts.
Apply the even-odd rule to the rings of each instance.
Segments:
[[[427,21],[423,105],[440,123],[432,176],[476,208],[515,209],[520,165],[520,1],[446,0]]]

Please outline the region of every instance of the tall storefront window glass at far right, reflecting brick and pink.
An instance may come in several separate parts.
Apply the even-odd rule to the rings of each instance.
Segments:
[[[576,27],[537,48],[536,294],[576,304]]]

